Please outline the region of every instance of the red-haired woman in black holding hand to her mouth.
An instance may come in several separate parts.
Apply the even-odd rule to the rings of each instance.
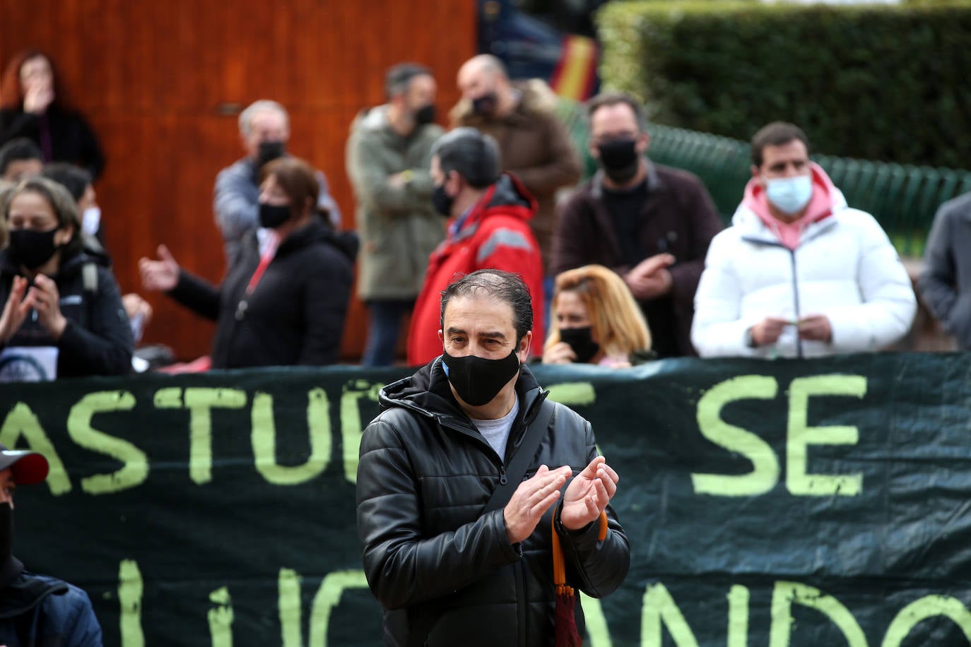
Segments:
[[[0,146],[26,137],[40,146],[46,162],[70,162],[97,179],[105,156],[94,131],[72,110],[45,53],[26,49],[15,55],[0,86]]]

